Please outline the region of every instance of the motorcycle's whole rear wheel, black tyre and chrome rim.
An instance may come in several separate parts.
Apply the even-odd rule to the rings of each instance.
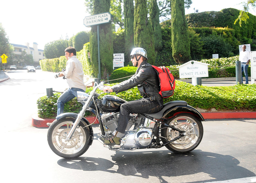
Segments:
[[[200,120],[197,120],[190,114],[179,114],[172,117],[166,122],[170,126],[174,126],[180,130],[185,131],[185,136],[176,141],[171,142],[165,147],[175,153],[187,153],[194,150],[203,138],[203,125]],[[162,140],[164,143],[171,141],[179,136],[179,132],[166,127],[162,129]]]

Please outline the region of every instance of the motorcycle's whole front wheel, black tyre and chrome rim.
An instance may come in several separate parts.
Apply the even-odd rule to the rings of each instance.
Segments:
[[[75,158],[89,148],[90,133],[88,127],[79,123],[70,140],[67,135],[75,119],[55,119],[48,129],[47,140],[52,151],[60,157]]]

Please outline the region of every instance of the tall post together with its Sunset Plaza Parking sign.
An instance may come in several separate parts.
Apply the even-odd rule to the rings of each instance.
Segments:
[[[98,74],[98,78],[101,78],[100,75],[100,29],[99,29],[99,25],[100,24],[106,24],[106,23],[111,23],[113,22],[113,15],[111,15],[109,12],[105,12],[105,13],[99,13],[99,14],[95,14],[95,15],[91,15],[88,17],[84,18],[84,25],[86,27],[91,27],[91,26],[95,26],[97,25],[97,37],[98,37],[98,64],[99,64],[99,74]]]

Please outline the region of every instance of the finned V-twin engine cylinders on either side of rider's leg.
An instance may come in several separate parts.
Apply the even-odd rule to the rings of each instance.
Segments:
[[[107,130],[110,130],[111,132],[114,132],[115,129],[117,128],[118,117],[119,117],[118,112],[110,112],[110,113],[102,114],[100,116],[100,118],[102,119],[102,123],[104,124],[105,128]],[[130,130],[130,128],[132,127],[132,125],[134,125],[134,123],[139,123],[140,122],[140,121],[138,121],[139,118],[137,120],[137,117],[138,117],[137,114],[130,114],[130,119],[129,119],[128,125],[125,129],[126,131]]]

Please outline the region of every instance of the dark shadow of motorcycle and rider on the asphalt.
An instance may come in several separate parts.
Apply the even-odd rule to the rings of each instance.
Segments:
[[[255,176],[253,172],[238,166],[239,163],[233,156],[201,150],[194,150],[188,154],[170,153],[169,150],[117,151],[116,154],[112,155],[112,161],[95,157],[78,157],[58,161],[60,166],[66,168],[119,173],[145,179],[148,179],[149,176],[155,176],[161,182],[166,182],[163,177],[193,175],[200,172],[207,173],[214,181]],[[204,182],[207,181],[212,181],[212,179],[204,180]],[[190,183],[199,182],[202,180]]]

